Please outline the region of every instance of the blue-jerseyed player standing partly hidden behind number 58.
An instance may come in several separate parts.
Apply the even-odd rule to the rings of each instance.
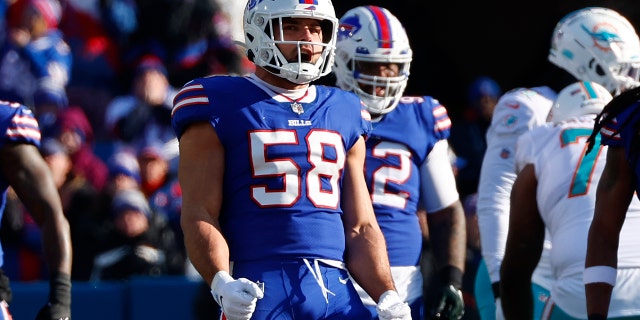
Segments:
[[[366,181],[396,287],[410,304],[413,319],[424,319],[419,265],[423,230],[418,216],[424,214],[418,210],[422,200],[443,284],[432,316],[459,319],[464,312],[460,288],[466,229],[448,157],[451,120],[432,97],[403,97],[411,60],[406,32],[387,9],[361,6],[340,18],[336,83],[358,94],[373,118],[366,143]],[[375,302],[364,290],[359,293],[371,319],[376,319]]]

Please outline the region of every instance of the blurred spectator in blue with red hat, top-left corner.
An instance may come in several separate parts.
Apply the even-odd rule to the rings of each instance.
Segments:
[[[0,47],[0,99],[33,109],[37,102],[65,104],[73,58],[57,28],[58,0],[17,0],[7,17],[7,36]]]

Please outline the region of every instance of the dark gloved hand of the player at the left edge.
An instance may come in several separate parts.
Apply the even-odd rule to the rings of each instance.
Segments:
[[[71,319],[71,277],[54,273],[49,280],[49,302],[38,311],[36,320]]]

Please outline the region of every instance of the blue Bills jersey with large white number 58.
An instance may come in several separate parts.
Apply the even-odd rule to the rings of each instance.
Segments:
[[[248,77],[196,79],[174,100],[178,138],[190,123],[207,121],[224,146],[220,223],[232,261],[343,260],[345,158],[371,122],[355,94],[309,91],[315,98],[300,100],[300,114]]]

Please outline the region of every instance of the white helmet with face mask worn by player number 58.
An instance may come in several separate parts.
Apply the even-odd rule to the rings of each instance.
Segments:
[[[300,53],[297,61],[287,61],[278,44],[310,44],[306,41],[280,41],[282,18],[310,18],[322,21],[322,55],[316,63],[304,62]],[[277,27],[277,28],[276,28]],[[314,81],[331,72],[335,55],[335,34],[338,19],[331,0],[249,0],[244,10],[244,39],[246,54],[257,66],[293,83]],[[319,45],[318,43],[313,43]]]

